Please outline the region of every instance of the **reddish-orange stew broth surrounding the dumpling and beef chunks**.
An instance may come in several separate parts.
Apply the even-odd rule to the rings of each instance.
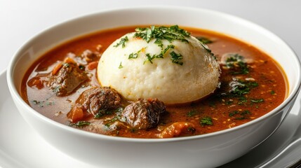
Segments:
[[[167,106],[158,125],[147,130],[116,124],[116,113],[108,113],[100,118],[86,116],[81,124],[70,123],[67,113],[80,94],[88,88],[100,86],[95,65],[81,64],[81,59],[74,59],[81,64],[89,80],[81,83],[76,91],[67,96],[53,94],[43,79],[66,57],[76,58],[84,55],[87,50],[101,55],[113,41],[134,30],[135,27],[122,27],[100,31],[68,41],[46,52],[25,74],[21,85],[22,98],[39,113],[70,127],[119,137],[159,138],[161,132],[170,125],[174,127],[169,137],[207,134],[236,127],[272,111],[286,97],[286,77],[279,64],[267,54],[224,34],[186,28],[192,36],[206,43],[220,62],[224,62],[220,64],[222,73],[218,90],[198,102]],[[129,104],[126,100],[123,102]],[[180,133],[177,133],[177,129]]]

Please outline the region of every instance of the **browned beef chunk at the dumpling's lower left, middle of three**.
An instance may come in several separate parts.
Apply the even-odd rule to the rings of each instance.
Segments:
[[[85,90],[76,100],[76,107],[93,114],[103,116],[107,111],[118,109],[121,106],[121,98],[116,90],[110,87],[92,87]]]

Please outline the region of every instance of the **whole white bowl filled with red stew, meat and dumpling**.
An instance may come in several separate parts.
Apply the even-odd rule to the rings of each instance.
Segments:
[[[8,86],[27,123],[76,159],[217,167],[279,127],[300,62],[279,37],[232,15],[126,8],[41,32],[13,57]]]

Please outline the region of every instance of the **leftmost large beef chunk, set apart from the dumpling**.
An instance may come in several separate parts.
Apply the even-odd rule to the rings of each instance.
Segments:
[[[88,76],[84,71],[79,69],[75,63],[60,63],[60,66],[55,66],[58,71],[51,73],[48,76],[48,87],[53,90],[57,96],[67,96],[74,92],[76,87],[88,80]],[[54,69],[55,70],[55,69]]]

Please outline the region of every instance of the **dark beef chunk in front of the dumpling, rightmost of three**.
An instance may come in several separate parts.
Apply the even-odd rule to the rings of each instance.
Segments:
[[[139,99],[123,109],[121,118],[133,128],[149,129],[158,125],[159,116],[165,111],[166,106],[158,99]]]

